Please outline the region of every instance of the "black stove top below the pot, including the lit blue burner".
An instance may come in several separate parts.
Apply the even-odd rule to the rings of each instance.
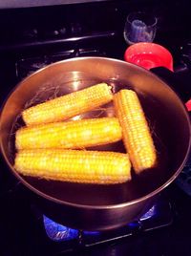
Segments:
[[[130,255],[189,255],[191,200],[175,183],[141,220],[104,232],[53,223],[31,203],[20,183],[1,192],[0,198],[1,255],[125,255],[129,250]]]

